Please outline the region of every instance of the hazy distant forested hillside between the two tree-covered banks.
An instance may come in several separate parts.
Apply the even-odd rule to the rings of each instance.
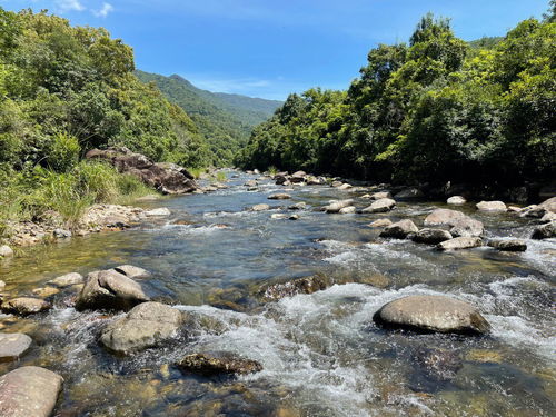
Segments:
[[[210,150],[224,162],[230,162],[245,145],[251,129],[267,120],[281,101],[239,95],[215,93],[195,87],[185,78],[136,71],[142,82],[155,82],[160,91],[191,117],[207,138]]]

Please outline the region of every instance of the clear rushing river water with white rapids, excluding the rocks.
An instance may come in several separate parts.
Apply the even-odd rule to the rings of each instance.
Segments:
[[[230,173],[231,175],[231,173]],[[386,215],[314,211],[330,199],[364,192],[298,187],[291,200],[262,181],[210,195],[165,199],[153,206],[168,219],[126,232],[75,238],[32,249],[0,264],[10,295],[31,294],[71,271],[87,274],[121,264],[148,269],[141,281],[156,299],[196,317],[163,347],[115,357],[98,344],[113,319],[68,307],[75,292],[56,295],[44,315],[0,315],[2,331],[23,331],[34,342],[18,364],[38,365],[64,378],[56,416],[554,416],[556,241],[527,239],[527,219],[460,209],[485,224],[489,237],[527,239],[524,254],[477,248],[441,254],[406,240],[384,240],[366,227],[380,217],[411,218],[443,203],[400,203]],[[300,219],[275,212],[307,202]],[[256,203],[271,211],[246,211]],[[227,227],[224,228],[222,225]],[[345,285],[264,304],[265,285],[325,274]],[[443,294],[479,307],[493,325],[488,337],[385,331],[371,321],[385,302],[405,295]],[[119,317],[119,316],[117,316]],[[439,349],[439,350],[438,350]],[[260,361],[264,371],[237,379],[180,373],[183,355],[227,350]],[[448,353],[441,369],[424,365],[427,353]]]

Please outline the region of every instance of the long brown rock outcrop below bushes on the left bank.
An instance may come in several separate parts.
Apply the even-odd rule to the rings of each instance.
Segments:
[[[175,163],[156,163],[145,155],[125,147],[92,149],[87,152],[86,158],[109,161],[120,172],[130,173],[163,193],[186,193],[198,188],[195,177],[185,168]]]

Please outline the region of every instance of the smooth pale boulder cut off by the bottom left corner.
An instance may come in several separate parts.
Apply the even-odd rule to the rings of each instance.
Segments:
[[[48,369],[23,366],[0,377],[0,416],[50,417],[63,378]]]

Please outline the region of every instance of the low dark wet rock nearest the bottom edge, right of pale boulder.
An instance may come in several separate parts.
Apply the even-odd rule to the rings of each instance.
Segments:
[[[251,359],[244,359],[232,354],[193,354],[185,356],[178,364],[182,370],[206,376],[259,373],[262,366]]]

